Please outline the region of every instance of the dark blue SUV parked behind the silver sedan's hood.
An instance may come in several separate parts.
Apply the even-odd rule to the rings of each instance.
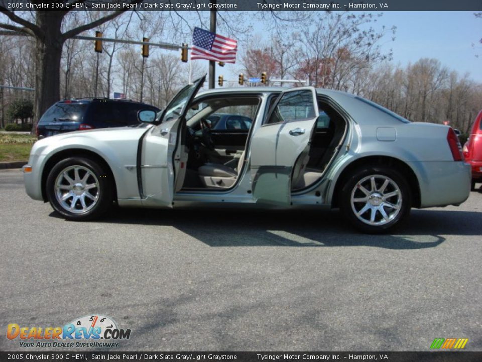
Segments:
[[[114,99],[74,99],[57,102],[44,113],[37,125],[37,138],[59,133],[123,127],[139,124],[142,110],[159,112],[145,103]]]

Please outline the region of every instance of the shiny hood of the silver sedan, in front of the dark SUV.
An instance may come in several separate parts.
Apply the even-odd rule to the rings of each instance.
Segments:
[[[132,141],[137,144],[137,141],[146,130],[146,127],[116,127],[61,133],[38,140],[35,142],[31,153],[41,154],[42,150],[49,146],[57,146],[66,143],[83,144],[89,143],[89,141],[109,143],[112,141],[124,141],[129,143],[129,141]]]

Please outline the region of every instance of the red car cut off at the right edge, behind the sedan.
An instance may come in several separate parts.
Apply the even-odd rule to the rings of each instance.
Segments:
[[[472,166],[472,191],[482,182],[482,111],[475,118],[470,136],[463,145],[465,162]]]

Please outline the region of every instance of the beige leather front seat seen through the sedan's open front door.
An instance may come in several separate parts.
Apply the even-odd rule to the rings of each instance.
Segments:
[[[245,152],[239,157],[236,168],[223,164],[206,163],[197,169],[201,183],[208,188],[229,189],[243,168]]]

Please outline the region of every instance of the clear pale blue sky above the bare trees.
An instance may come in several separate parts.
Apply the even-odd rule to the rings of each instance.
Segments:
[[[394,64],[405,66],[420,58],[436,58],[449,70],[460,75],[470,73],[470,78],[482,83],[482,18],[474,12],[384,12],[378,19],[379,27],[397,27],[395,41],[388,32],[383,40],[385,50],[393,49]],[[269,34],[263,25],[255,25],[254,34]],[[269,39],[266,39],[267,41]],[[475,44],[475,49],[472,47]],[[477,58],[475,55],[479,55]],[[239,57],[238,57],[239,60]],[[238,65],[238,64],[236,64]],[[226,73],[222,68],[216,74]],[[232,68],[234,70],[234,68]],[[234,71],[235,72],[235,71]],[[233,73],[234,73],[233,72]]]

